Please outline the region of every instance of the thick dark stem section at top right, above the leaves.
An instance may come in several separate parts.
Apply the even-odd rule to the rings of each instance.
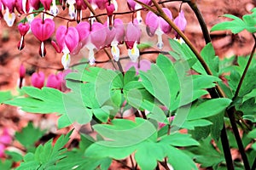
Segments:
[[[195,2],[192,3],[191,1],[188,1],[187,3],[189,4],[189,7],[192,8],[192,10],[196,15],[197,20],[199,21],[199,24],[201,26],[201,31],[203,33],[206,43],[212,42],[209,31],[207,30],[206,22],[203,19],[200,10],[197,8],[196,3]]]

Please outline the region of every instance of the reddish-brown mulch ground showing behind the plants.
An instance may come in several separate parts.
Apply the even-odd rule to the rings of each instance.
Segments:
[[[126,5],[124,5],[126,4],[125,0],[120,0],[119,2],[119,10],[129,10]],[[215,24],[226,20],[224,17],[221,17],[221,15],[234,14],[241,17],[243,14],[248,14],[256,5],[255,0],[201,0],[196,1],[196,3],[198,8],[201,10],[201,14],[207,23],[209,31]],[[173,17],[177,16],[180,3],[171,2],[166,3],[165,6],[166,8],[171,9]],[[193,11],[186,3],[183,3],[182,8],[184,10],[185,17],[188,20],[185,35],[189,37],[190,41],[198,50],[201,50],[201,48],[205,46],[206,42],[204,41],[201,28],[196,20],[195,14],[193,14]],[[62,13],[63,15],[67,15],[65,12]],[[86,14],[88,15],[89,13]],[[146,13],[143,12],[143,17],[145,14]],[[131,14],[124,15],[123,19],[128,22],[131,20]],[[0,20],[0,90],[11,90],[14,94],[18,88],[17,82],[19,79],[19,68],[21,63],[26,67],[26,85],[31,84],[30,76],[34,71],[44,71],[46,77],[48,77],[50,73],[55,73],[56,70],[62,69],[61,54],[57,54],[55,52],[50,41],[45,43],[47,54],[44,59],[38,54],[40,42],[32,35],[32,33],[28,33],[25,37],[25,48],[22,49],[22,51],[17,49],[17,43],[20,41],[20,33],[17,29],[19,20],[21,19],[18,17],[13,27],[8,27],[4,20]],[[55,21],[56,27],[63,24],[61,20]],[[253,48],[253,37],[247,33],[247,31],[242,31],[237,35],[233,35],[230,31],[213,31],[210,35],[212,37],[213,47],[220,59],[230,57],[232,55],[247,55],[250,54]],[[173,37],[173,32],[168,35],[168,37]],[[54,37],[52,38],[54,39]],[[101,54],[102,51],[99,51],[98,55],[96,55],[97,60],[108,59],[106,56],[102,56]],[[145,58],[154,60],[150,56]],[[72,64],[76,63],[79,59],[81,59],[81,54],[73,56]],[[122,64],[125,65],[125,62],[127,61],[124,61]],[[111,67],[110,64],[104,66]],[[47,119],[45,117],[47,117]],[[68,129],[56,129],[56,119],[57,117],[55,115],[34,115],[20,111],[12,106],[0,105],[0,131],[1,127],[8,127],[10,132],[14,134],[15,131],[19,131],[22,127],[25,127],[27,122],[32,121],[36,125],[40,125],[40,127],[50,129],[49,131],[52,133],[60,134],[67,132]],[[20,147],[19,144],[14,146],[18,148]],[[234,159],[240,157],[237,150],[232,153]],[[113,167],[110,169],[121,169],[120,166],[121,164],[119,162],[114,162]]]

